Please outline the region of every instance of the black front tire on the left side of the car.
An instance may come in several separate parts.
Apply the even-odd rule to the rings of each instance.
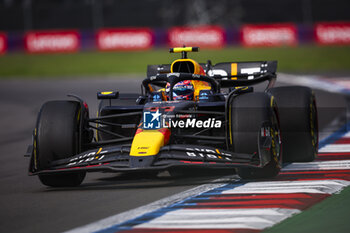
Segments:
[[[49,169],[55,160],[79,153],[81,118],[80,104],[76,101],[49,101],[41,107],[35,129],[38,171]],[[71,187],[80,185],[85,174],[39,174],[39,179],[46,186]]]

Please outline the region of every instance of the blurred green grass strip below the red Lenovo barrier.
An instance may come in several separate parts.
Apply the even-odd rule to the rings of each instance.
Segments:
[[[205,50],[192,53],[199,62],[278,60],[278,71],[349,71],[350,46],[281,47]],[[0,77],[90,76],[145,74],[147,64],[166,64],[179,58],[167,49],[138,52],[81,52],[75,54],[23,54],[0,56]]]

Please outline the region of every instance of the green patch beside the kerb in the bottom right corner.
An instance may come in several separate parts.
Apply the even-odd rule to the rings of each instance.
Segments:
[[[310,209],[291,217],[264,233],[348,233],[350,232],[350,187]]]

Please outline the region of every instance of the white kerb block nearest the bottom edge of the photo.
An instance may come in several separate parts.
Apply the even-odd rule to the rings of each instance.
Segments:
[[[297,209],[179,209],[134,228],[154,229],[264,229],[293,214]]]

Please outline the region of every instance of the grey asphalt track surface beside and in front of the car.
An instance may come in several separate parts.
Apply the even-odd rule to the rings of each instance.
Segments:
[[[97,109],[97,91],[140,91],[140,80],[90,78],[56,80],[0,80],[0,232],[62,232],[212,181],[222,174],[173,179],[125,177],[89,173],[78,188],[54,189],[27,175],[27,145],[40,106],[47,100],[67,99],[75,93]],[[344,96],[315,91],[320,128],[345,117]],[[336,127],[336,126],[334,126]],[[331,133],[332,129],[326,129]]]

